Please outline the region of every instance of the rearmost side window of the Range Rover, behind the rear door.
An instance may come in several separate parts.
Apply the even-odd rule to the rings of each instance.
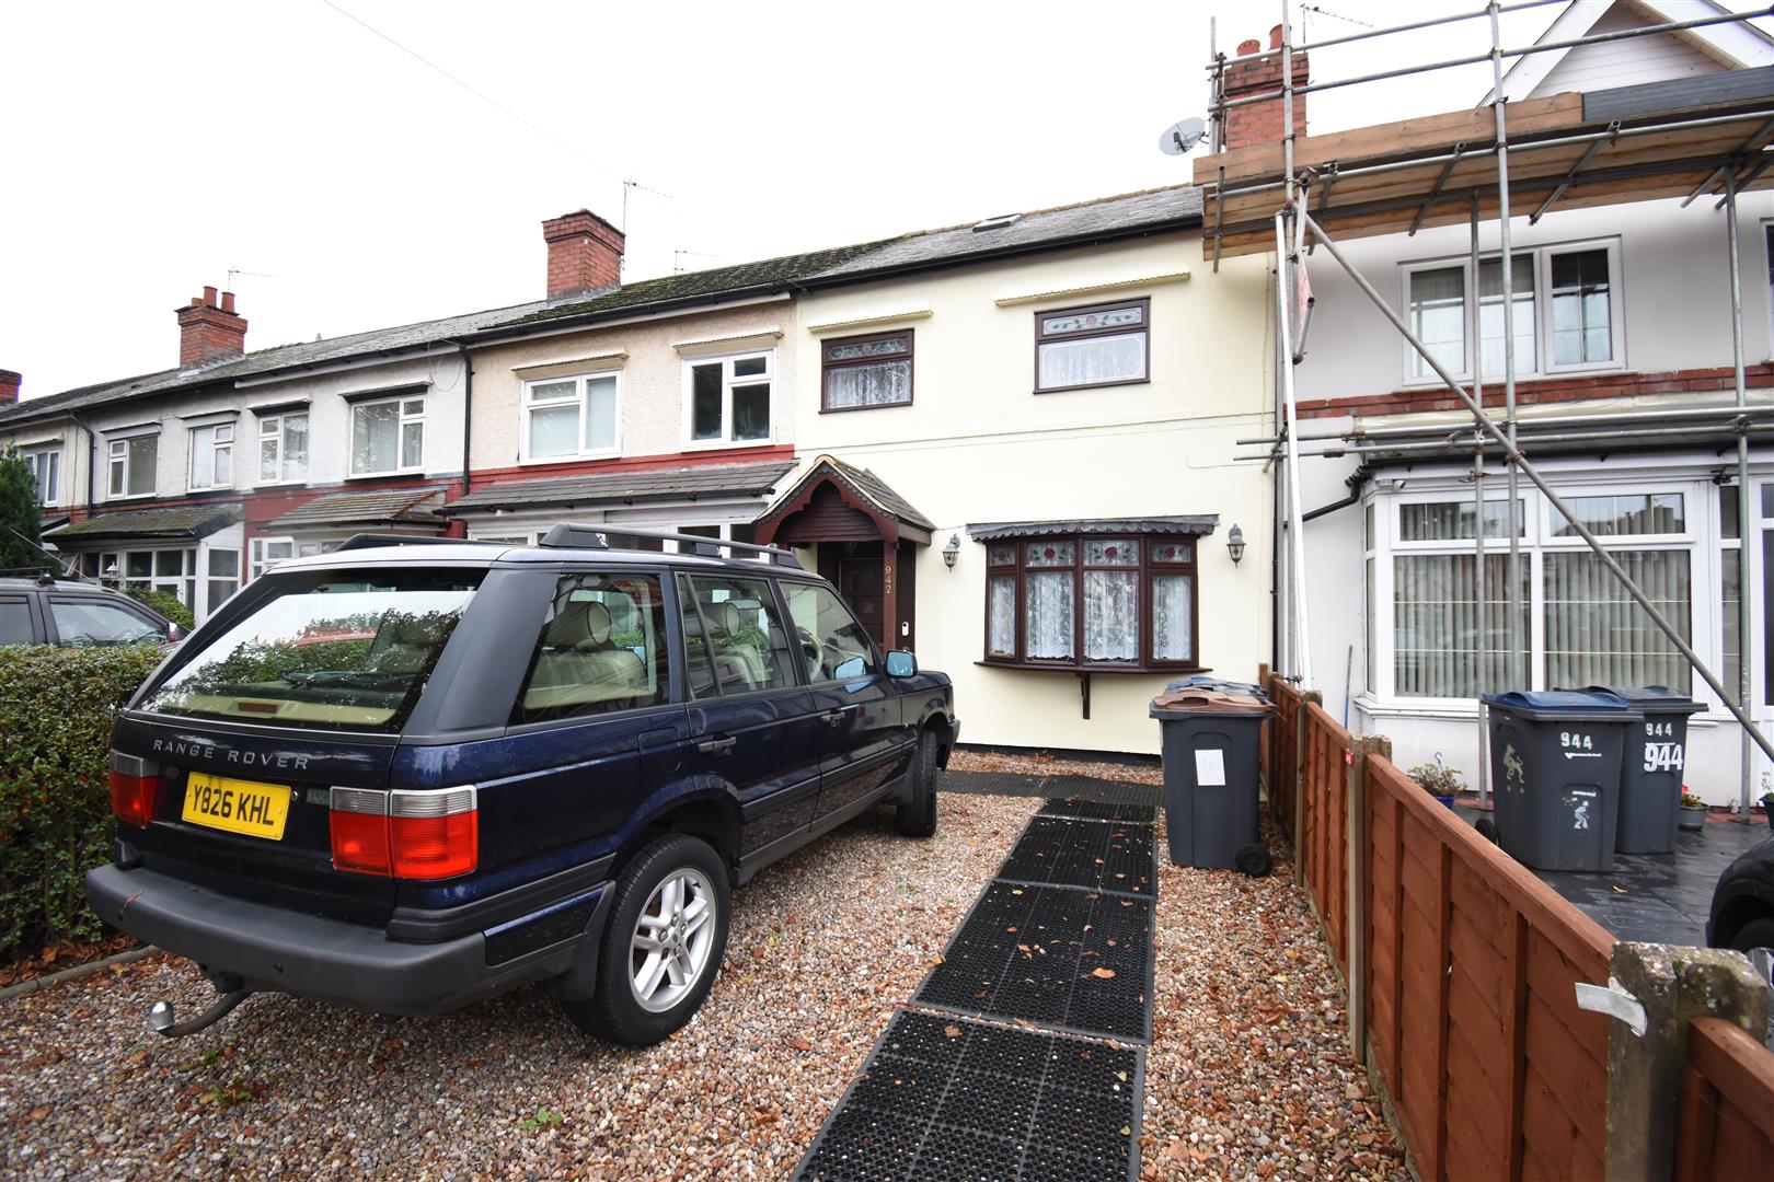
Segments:
[[[665,606],[653,574],[555,583],[511,721],[539,723],[665,702]]]

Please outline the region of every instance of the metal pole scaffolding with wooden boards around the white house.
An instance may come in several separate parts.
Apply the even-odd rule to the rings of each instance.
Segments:
[[[1421,454],[1471,455],[1474,484],[1474,555],[1478,601],[1474,610],[1478,642],[1478,689],[1488,686],[1490,626],[1485,597],[1487,528],[1485,461],[1495,457],[1503,464],[1508,484],[1504,500],[1504,530],[1508,537],[1504,587],[1504,636],[1508,680],[1524,686],[1522,668],[1522,579],[1520,579],[1520,480],[1529,480],[1547,503],[1565,519],[1609,574],[1618,579],[1627,595],[1644,611],[1646,618],[1668,638],[1669,645],[1692,666],[1719,702],[1737,719],[1740,741],[1739,819],[1747,820],[1751,810],[1751,744],[1774,760],[1774,744],[1754,725],[1751,698],[1751,562],[1749,562],[1749,441],[1774,432],[1774,406],[1751,406],[1744,374],[1742,333],[1742,268],[1737,237],[1737,198],[1749,188],[1767,188],[1774,168],[1774,67],[1739,69],[1719,74],[1701,74],[1675,82],[1639,83],[1613,90],[1554,94],[1550,97],[1511,103],[1506,94],[1504,60],[1536,53],[1574,50],[1611,41],[1629,41],[1664,34],[1687,34],[1712,25],[1747,25],[1763,16],[1774,16],[1774,7],[1751,12],[1721,12],[1685,21],[1662,21],[1637,28],[1540,41],[1524,46],[1506,46],[1501,34],[1501,16],[1524,9],[1538,9],[1568,0],[1492,0],[1483,9],[1451,16],[1428,18],[1371,28],[1343,37],[1320,39],[1311,44],[1293,44],[1290,0],[1281,4],[1279,44],[1256,55],[1240,57],[1238,64],[1279,62],[1279,85],[1254,94],[1228,96],[1228,60],[1212,50],[1208,62],[1212,87],[1212,154],[1197,159],[1196,183],[1203,186],[1205,225],[1213,268],[1228,255],[1276,253],[1276,312],[1277,312],[1277,370],[1276,370],[1276,434],[1258,439],[1240,439],[1265,450],[1240,455],[1277,466],[1277,482],[1286,486],[1283,498],[1277,489],[1277,526],[1286,544],[1277,544],[1277,560],[1286,564],[1288,578],[1277,579],[1283,601],[1277,611],[1277,661],[1281,672],[1311,684],[1311,654],[1307,627],[1307,601],[1304,594],[1306,537],[1304,525],[1316,514],[1300,509],[1299,464],[1322,455],[1355,455],[1362,459],[1357,473],[1377,459],[1396,459]],[[1396,69],[1357,74],[1329,82],[1295,83],[1295,53],[1329,46],[1370,41],[1483,19],[1488,25],[1490,46],[1485,53],[1469,53],[1439,62],[1401,66]],[[1389,78],[1425,74],[1460,66],[1490,64],[1492,90],[1478,108],[1448,112],[1426,119],[1412,119],[1346,133],[1300,136],[1295,101],[1306,94],[1373,83]],[[1279,103],[1281,142],[1226,149],[1228,115],[1235,108],[1254,103]],[[1627,202],[1684,197],[1684,207],[1703,195],[1715,195],[1726,211],[1728,278],[1731,307],[1731,360],[1733,406],[1676,408],[1666,411],[1614,415],[1543,415],[1527,422],[1517,413],[1517,356],[1513,330],[1513,250],[1511,220],[1519,216],[1511,200],[1533,204],[1529,225],[1540,222],[1558,206],[1616,206]],[[1480,222],[1495,218],[1499,250],[1503,308],[1503,374],[1501,418],[1483,406],[1480,365]],[[1343,252],[1339,241],[1377,234],[1414,236],[1425,225],[1471,227],[1471,268],[1474,298],[1469,301],[1469,340],[1472,342],[1471,388],[1435,356],[1410,330],[1375,285]],[[1336,229],[1336,236],[1327,229]],[[1307,241],[1309,239],[1309,241]],[[1330,259],[1348,275],[1350,282],[1403,337],[1410,349],[1453,392],[1465,408],[1465,425],[1412,424],[1378,429],[1352,427],[1341,432],[1302,436],[1297,425],[1293,367],[1304,356],[1306,331],[1311,324],[1311,299],[1304,296],[1304,257],[1323,246]],[[1669,441],[1712,443],[1719,448],[1735,447],[1737,521],[1742,549],[1737,579],[1737,636],[1739,684],[1724,686],[1707,663],[1689,645],[1678,629],[1644,590],[1627,574],[1595,533],[1579,519],[1570,505],[1552,489],[1542,471],[1527,457],[1529,447],[1570,448],[1582,445],[1648,447]],[[1302,443],[1315,447],[1302,450]],[[1721,471],[1717,477],[1724,480]],[[1339,502],[1355,503],[1355,494]],[[1286,521],[1279,521],[1279,517]],[[1485,758],[1485,714],[1480,705],[1480,792],[1488,792]]]

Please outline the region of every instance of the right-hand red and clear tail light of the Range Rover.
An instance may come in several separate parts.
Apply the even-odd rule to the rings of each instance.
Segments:
[[[451,879],[481,863],[474,785],[436,792],[334,789],[334,867],[396,879]]]

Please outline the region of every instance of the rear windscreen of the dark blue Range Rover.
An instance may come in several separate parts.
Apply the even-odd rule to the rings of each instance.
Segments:
[[[399,730],[481,571],[268,576],[275,594],[213,636],[140,709],[284,727]]]

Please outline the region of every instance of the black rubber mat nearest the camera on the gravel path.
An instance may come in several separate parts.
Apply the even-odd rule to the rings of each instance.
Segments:
[[[1119,1182],[1142,1079],[1139,1049],[899,1010],[797,1177]]]

